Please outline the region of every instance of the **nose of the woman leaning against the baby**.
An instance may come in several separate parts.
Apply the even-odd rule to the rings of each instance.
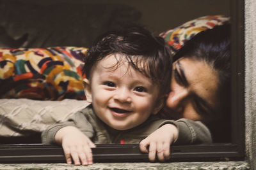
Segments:
[[[167,97],[166,105],[175,110],[181,111],[189,93],[187,89],[172,90]]]

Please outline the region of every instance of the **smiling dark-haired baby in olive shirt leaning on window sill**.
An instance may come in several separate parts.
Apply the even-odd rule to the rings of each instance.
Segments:
[[[178,134],[180,139],[190,138],[184,121],[157,117],[172,74],[172,57],[163,38],[142,27],[108,32],[86,53],[83,73],[91,104],[42,133],[43,143],[62,145],[68,164],[92,164],[95,143],[140,143],[150,161],[164,161],[170,157],[170,145],[180,141]],[[200,140],[211,141],[211,136]]]

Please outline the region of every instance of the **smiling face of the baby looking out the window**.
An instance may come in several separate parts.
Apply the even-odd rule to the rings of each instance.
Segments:
[[[109,55],[93,68],[90,82],[93,109],[110,127],[127,130],[142,124],[159,104],[159,87],[128,65],[116,66],[122,54]],[[87,97],[87,96],[86,96]]]

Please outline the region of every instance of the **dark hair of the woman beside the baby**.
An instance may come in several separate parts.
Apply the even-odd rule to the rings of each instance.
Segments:
[[[189,57],[195,60],[203,60],[218,73],[218,96],[221,106],[214,115],[215,121],[209,122],[210,129],[216,129],[230,122],[230,24],[218,25],[213,29],[207,29],[196,34],[193,38],[173,56],[173,60],[180,57]],[[212,128],[211,128],[212,127]],[[229,127],[225,127],[226,129]],[[225,129],[222,129],[222,132]],[[227,134],[225,134],[227,135]]]

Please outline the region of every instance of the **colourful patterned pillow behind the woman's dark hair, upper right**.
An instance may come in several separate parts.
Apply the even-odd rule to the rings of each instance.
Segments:
[[[172,47],[172,53],[176,53],[182,45],[195,34],[206,29],[212,29],[216,25],[222,25],[229,22],[230,18],[223,15],[204,16],[190,20],[175,29],[164,31],[159,36],[163,37]]]

